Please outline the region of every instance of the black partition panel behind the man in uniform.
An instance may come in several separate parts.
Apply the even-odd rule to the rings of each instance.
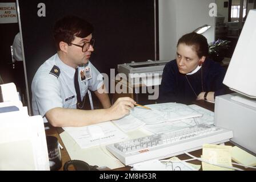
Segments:
[[[37,16],[38,3],[45,3],[46,17]],[[79,15],[94,25],[90,60],[100,72],[154,60],[154,0],[19,0],[19,9],[29,90],[38,67],[56,52],[51,31],[64,15]]]

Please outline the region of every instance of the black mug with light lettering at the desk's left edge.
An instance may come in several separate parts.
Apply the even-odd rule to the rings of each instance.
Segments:
[[[61,150],[56,137],[46,136],[50,170],[55,171],[62,167]]]

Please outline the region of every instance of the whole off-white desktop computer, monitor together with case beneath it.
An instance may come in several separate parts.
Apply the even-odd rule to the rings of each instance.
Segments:
[[[215,98],[214,125],[233,131],[231,142],[256,155],[256,10],[250,10],[223,84],[237,93]]]

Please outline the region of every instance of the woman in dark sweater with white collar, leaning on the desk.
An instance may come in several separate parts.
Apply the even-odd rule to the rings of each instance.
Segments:
[[[225,69],[207,59],[207,39],[200,34],[183,35],[177,44],[176,60],[163,69],[159,102],[191,104],[195,100],[214,101],[225,93]]]

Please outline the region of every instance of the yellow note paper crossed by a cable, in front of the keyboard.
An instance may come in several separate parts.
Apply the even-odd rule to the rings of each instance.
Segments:
[[[213,164],[232,167],[231,163],[231,146],[221,146],[215,144],[204,144],[202,159]],[[218,167],[202,162],[203,171],[226,171],[229,168]]]

